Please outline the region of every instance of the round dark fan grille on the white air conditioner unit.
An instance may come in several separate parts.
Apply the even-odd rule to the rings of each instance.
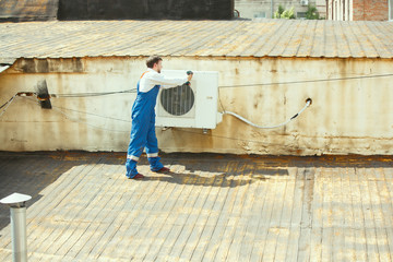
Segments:
[[[190,85],[183,84],[162,91],[160,103],[170,115],[182,116],[194,105],[194,93]]]

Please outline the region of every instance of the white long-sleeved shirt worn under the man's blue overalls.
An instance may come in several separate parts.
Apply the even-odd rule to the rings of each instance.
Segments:
[[[155,85],[160,85],[162,88],[170,88],[177,85],[182,85],[187,81],[187,76],[182,79],[166,78],[164,74],[157,73],[150,68],[140,80],[140,92],[146,93],[151,91]]]

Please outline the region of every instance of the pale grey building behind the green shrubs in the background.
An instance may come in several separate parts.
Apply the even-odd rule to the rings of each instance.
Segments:
[[[235,9],[245,19],[272,19],[278,5],[285,9],[295,9],[297,19],[306,17],[309,5],[315,5],[320,17],[326,16],[326,0],[235,0]]]

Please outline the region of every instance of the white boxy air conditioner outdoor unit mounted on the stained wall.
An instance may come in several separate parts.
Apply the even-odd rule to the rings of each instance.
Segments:
[[[163,70],[169,78],[183,78],[187,71]],[[191,85],[162,88],[157,96],[156,127],[215,129],[222,121],[217,112],[218,72],[194,71]]]

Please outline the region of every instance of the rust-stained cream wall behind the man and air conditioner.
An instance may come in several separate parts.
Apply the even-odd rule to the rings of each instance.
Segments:
[[[40,80],[51,94],[133,88],[144,59],[21,59],[0,74],[0,105],[17,92],[34,91]],[[308,97],[312,105],[274,130],[231,116],[207,134],[157,129],[159,146],[165,152],[392,154],[393,76],[374,76],[391,73],[392,66],[388,59],[164,58],[165,69],[218,71],[222,106],[258,124],[285,121]],[[247,84],[264,85],[230,87]],[[17,97],[0,117],[0,150],[126,151],[133,99],[134,94],[51,98],[53,108],[41,109],[35,97]]]

